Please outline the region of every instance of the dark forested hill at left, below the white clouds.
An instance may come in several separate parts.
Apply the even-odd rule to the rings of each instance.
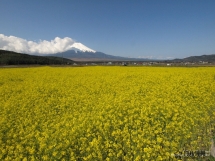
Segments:
[[[57,64],[71,64],[74,61],[53,57],[53,56],[35,56],[22,53],[16,53],[12,51],[0,50],[0,65],[57,65]]]

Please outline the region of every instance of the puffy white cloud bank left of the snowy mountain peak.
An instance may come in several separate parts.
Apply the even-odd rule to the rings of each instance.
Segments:
[[[26,54],[54,54],[64,52],[75,43],[69,37],[63,39],[56,37],[54,40],[40,40],[39,42],[27,41],[15,36],[0,34],[0,49]]]

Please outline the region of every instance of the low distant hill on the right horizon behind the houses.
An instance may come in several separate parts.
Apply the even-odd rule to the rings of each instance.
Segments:
[[[174,59],[172,61],[175,62],[200,62],[200,61],[204,61],[204,62],[215,62],[215,54],[212,55],[201,55],[201,56],[190,56],[184,59]]]

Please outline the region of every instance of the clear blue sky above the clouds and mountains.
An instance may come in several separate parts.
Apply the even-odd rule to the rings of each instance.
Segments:
[[[106,54],[215,54],[214,0],[0,0],[0,34],[70,37]]]

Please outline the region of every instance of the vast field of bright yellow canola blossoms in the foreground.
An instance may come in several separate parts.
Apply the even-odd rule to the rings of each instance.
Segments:
[[[214,126],[214,67],[0,68],[0,160],[177,160]]]

